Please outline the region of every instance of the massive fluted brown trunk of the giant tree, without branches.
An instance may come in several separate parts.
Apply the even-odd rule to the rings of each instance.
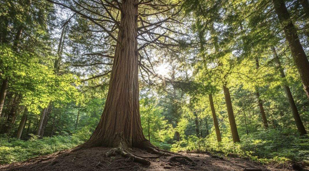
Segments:
[[[104,111],[91,138],[80,146],[154,146],[144,137],[139,113],[138,0],[122,2],[120,27]],[[149,163],[150,164],[150,163]]]

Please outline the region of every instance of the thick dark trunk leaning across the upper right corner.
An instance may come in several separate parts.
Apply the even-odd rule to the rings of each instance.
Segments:
[[[294,63],[298,69],[300,78],[302,79],[307,97],[309,98],[309,62],[306,53],[299,41],[297,30],[292,23],[284,0],[273,0],[273,5],[279,21],[283,25],[284,34],[289,43]]]

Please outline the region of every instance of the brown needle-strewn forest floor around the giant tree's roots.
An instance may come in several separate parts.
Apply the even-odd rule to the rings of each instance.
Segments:
[[[147,153],[138,148],[132,148],[134,154],[144,157],[150,157],[151,165],[146,166],[134,162],[126,162],[124,157],[120,155],[105,158],[104,154],[111,148],[95,147],[83,149],[76,152],[68,153],[64,150],[47,156],[40,156],[23,162],[12,163],[8,165],[0,165],[1,171],[99,171],[99,170],[138,170],[138,171],[175,171],[175,170],[197,170],[197,171],[241,171],[244,168],[256,168],[263,171],[282,171],[282,170],[303,170],[309,171],[308,166],[300,163],[291,165],[265,164],[262,165],[248,159],[239,157],[218,157],[211,154],[185,153],[179,154],[188,156],[193,162],[184,165],[178,162],[170,161],[171,156],[158,156]],[[181,160],[181,159],[179,159]],[[292,167],[294,166],[294,168]],[[300,167],[301,168],[300,168]]]

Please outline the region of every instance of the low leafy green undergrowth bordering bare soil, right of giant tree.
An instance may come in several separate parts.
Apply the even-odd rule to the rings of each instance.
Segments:
[[[244,135],[241,143],[233,143],[231,138],[222,137],[218,143],[215,134],[206,138],[188,136],[172,145],[171,151],[197,150],[220,155],[250,157],[261,163],[285,163],[286,161],[309,162],[309,139],[291,131],[268,129]]]

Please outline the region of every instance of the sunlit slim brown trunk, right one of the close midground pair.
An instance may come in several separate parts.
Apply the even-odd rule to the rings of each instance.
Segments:
[[[223,84],[223,92],[224,92],[224,97],[225,97],[225,103],[226,103],[226,108],[227,108],[227,115],[229,117],[229,122],[231,126],[231,132],[232,132],[232,137],[233,137],[233,142],[240,142],[238,131],[237,131],[237,126],[235,122],[235,117],[234,117],[234,111],[233,111],[233,106],[232,106],[232,101],[231,101],[231,95],[230,95],[230,90]]]

